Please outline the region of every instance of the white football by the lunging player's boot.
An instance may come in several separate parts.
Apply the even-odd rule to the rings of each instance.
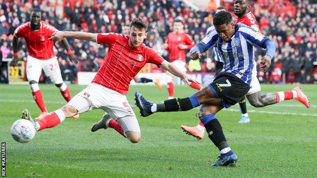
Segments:
[[[34,138],[36,130],[30,121],[19,119],[12,124],[10,132],[17,142],[27,143]]]

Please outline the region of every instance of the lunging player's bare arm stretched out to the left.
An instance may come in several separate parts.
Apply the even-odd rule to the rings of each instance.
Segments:
[[[73,38],[78,40],[96,42],[96,37],[97,33],[88,33],[82,31],[55,31],[52,34],[52,37],[49,38],[49,40],[56,38],[57,41],[55,44],[58,44],[64,38]]]

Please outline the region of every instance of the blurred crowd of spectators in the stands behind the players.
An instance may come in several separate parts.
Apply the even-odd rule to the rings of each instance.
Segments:
[[[23,4],[17,0],[10,2],[12,1],[0,0],[0,49],[3,58],[13,56],[14,30],[29,20],[31,8],[39,8],[43,11],[42,20],[59,30],[69,31],[121,33],[122,27],[128,25],[134,17],[142,17],[149,23],[146,45],[155,49],[167,60],[168,52],[162,48],[162,45],[167,34],[172,31],[173,19],[181,16],[185,32],[191,35],[195,43],[198,43],[212,24],[212,16],[215,12],[212,6],[207,8],[210,12],[194,12],[183,3],[174,0],[97,0],[94,4],[64,1],[65,7],[62,10],[56,10],[56,6],[50,5],[49,1],[35,0]],[[214,1],[210,0],[210,2],[212,4]],[[264,74],[258,69],[260,81],[317,83],[317,70],[313,71],[313,65],[317,65],[317,2],[308,0],[251,2],[251,11],[257,18],[261,32],[270,37],[278,47],[269,71]],[[224,5],[227,5],[225,7],[229,11],[233,9],[233,3]],[[74,81],[77,71],[96,72],[105,56],[107,46],[68,40],[80,62],[78,66],[69,62],[66,50],[59,45],[55,46],[63,78]],[[19,43],[21,48],[18,54],[26,60],[26,45],[21,42],[22,40]],[[256,49],[258,62],[263,54],[263,50]],[[206,67],[205,54],[200,62],[201,65],[195,68],[195,72],[214,71],[214,68]],[[5,67],[2,65],[0,69],[2,76],[0,81],[5,81]]]

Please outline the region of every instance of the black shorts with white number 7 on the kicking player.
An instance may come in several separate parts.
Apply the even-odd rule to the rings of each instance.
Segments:
[[[219,73],[212,83],[208,84],[217,98],[223,98],[223,106],[229,108],[231,105],[241,101],[249,91],[250,86],[241,79],[230,73]]]

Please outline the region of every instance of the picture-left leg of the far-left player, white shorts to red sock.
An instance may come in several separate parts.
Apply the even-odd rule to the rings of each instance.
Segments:
[[[45,115],[47,114],[47,110],[43,100],[42,92],[39,87],[39,79],[40,79],[41,73],[42,73],[41,60],[28,56],[27,63],[26,63],[26,78],[30,85],[33,98],[42,112],[41,115]]]

